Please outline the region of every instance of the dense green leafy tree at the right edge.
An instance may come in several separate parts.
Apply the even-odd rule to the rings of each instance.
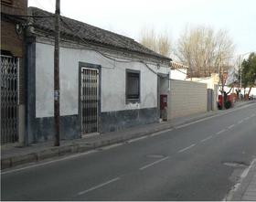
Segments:
[[[256,86],[256,54],[252,52],[249,58],[244,59],[241,63],[241,77],[244,88],[250,88],[248,95],[250,95],[251,88]]]

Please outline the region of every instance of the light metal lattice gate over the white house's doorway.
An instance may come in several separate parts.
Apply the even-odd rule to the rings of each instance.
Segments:
[[[99,70],[81,68],[80,78],[81,133],[98,133]]]

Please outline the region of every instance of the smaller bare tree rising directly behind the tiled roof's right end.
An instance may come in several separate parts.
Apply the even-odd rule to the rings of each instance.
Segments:
[[[157,35],[154,28],[144,28],[141,32],[140,43],[146,48],[150,48],[161,55],[170,57],[171,39],[167,32]]]

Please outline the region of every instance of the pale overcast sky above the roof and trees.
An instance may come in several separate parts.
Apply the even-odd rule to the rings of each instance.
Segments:
[[[55,0],[28,0],[28,6],[54,13]],[[60,0],[60,12],[137,41],[144,28],[168,33],[173,44],[187,26],[225,29],[236,54],[256,51],[256,0]]]

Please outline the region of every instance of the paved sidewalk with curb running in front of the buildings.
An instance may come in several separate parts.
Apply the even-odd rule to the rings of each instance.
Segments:
[[[235,108],[242,107],[255,101],[240,101],[235,104]],[[188,122],[195,122],[219,113],[229,112],[215,111],[195,114],[182,118],[176,118],[170,122],[156,122],[146,124],[133,128],[128,128],[123,131],[113,133],[103,133],[83,139],[63,140],[60,141],[59,147],[54,147],[53,142],[48,141],[42,144],[30,144],[26,147],[5,145],[1,147],[1,169],[9,168],[16,165],[23,165],[27,163],[37,162],[44,159],[61,156],[64,154],[75,154],[87,152],[102,146],[125,143],[130,139],[139,138],[150,135],[152,133],[165,131],[170,128],[175,128],[178,125],[186,124]]]

